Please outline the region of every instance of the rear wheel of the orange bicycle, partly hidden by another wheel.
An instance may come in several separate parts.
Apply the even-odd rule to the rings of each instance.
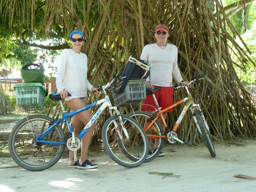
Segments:
[[[151,115],[150,113],[148,112],[145,112],[145,111],[134,111],[134,112],[130,112],[127,114],[128,116],[134,118],[136,121],[138,121],[138,123],[140,125],[142,125],[142,127],[144,128],[144,125],[145,125],[145,117],[147,118],[151,118],[153,115]],[[135,118],[135,116],[137,118]],[[152,135],[159,135],[159,136],[163,136],[163,129],[162,129],[162,126],[161,124],[158,122],[158,121],[155,121],[154,122],[154,127],[156,129],[156,132],[154,130],[150,131],[150,130],[147,130],[146,131],[146,134],[152,134]],[[162,151],[162,148],[163,148],[163,145],[164,145],[164,138],[159,138],[159,143],[158,145],[155,147],[155,140],[156,139],[152,139],[153,141],[151,141],[151,144],[149,143],[148,146],[150,149],[155,149],[155,151],[152,151],[152,155],[151,156],[148,156],[144,163],[147,163],[147,162],[150,162],[152,161],[153,159],[155,159],[158,154]],[[150,146],[151,145],[151,146]]]

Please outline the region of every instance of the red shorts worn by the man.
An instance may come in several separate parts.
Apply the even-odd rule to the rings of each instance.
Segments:
[[[154,85],[153,87],[160,87],[162,89],[154,93],[159,107],[162,107],[161,110],[173,104],[173,87],[161,87],[161,86],[154,86]],[[142,111],[155,111],[155,108],[157,108],[153,95],[147,95],[146,99],[143,101],[143,104],[146,104],[146,105],[142,105],[142,108],[141,108]],[[152,105],[155,108],[149,105]],[[170,109],[167,112],[173,112],[173,109]]]

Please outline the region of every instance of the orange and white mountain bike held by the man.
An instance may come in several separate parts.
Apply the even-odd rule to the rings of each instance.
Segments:
[[[204,76],[205,76],[205,74],[193,78],[193,80],[190,81],[189,84],[193,84],[193,83],[197,82],[198,80],[202,79]],[[204,138],[204,141],[207,145],[207,148],[208,148],[211,156],[212,157],[216,156],[214,145],[212,143],[211,136],[210,136],[209,126],[205,120],[205,117],[204,117],[204,114],[202,113],[200,105],[196,104],[194,102],[194,99],[193,99],[191,93],[189,92],[187,86],[174,86],[173,87],[174,90],[177,90],[180,88],[184,88],[186,90],[188,96],[186,98],[168,106],[165,109],[161,109],[161,107],[159,107],[159,105],[156,101],[156,97],[154,95],[154,92],[161,90],[161,88],[156,87],[154,89],[147,89],[147,94],[152,94],[153,98],[155,100],[155,103],[157,106],[157,109],[155,109],[155,112],[153,114],[150,114],[145,111],[132,111],[127,114],[128,116],[135,118],[142,125],[142,127],[144,127],[144,130],[147,134],[148,139],[153,140],[151,142],[151,146],[149,143],[149,148],[153,149],[154,151],[153,151],[152,155],[148,155],[148,157],[145,159],[144,162],[152,161],[153,159],[155,159],[158,156],[159,152],[162,150],[162,147],[164,144],[164,142],[163,142],[164,139],[167,139],[170,143],[176,143],[177,141],[180,143],[184,143],[183,141],[179,140],[179,138],[177,137],[177,129],[178,129],[178,127],[188,109],[190,109],[190,111],[191,111],[191,114],[196,123],[197,129],[200,132],[200,134],[202,135],[202,137]],[[176,123],[174,124],[173,129],[172,130],[168,129],[166,122],[164,120],[164,117],[163,117],[163,113],[165,113],[166,111],[168,111],[184,102],[185,102],[185,106],[184,106],[182,112],[180,113]],[[145,118],[148,119],[146,123],[145,123]],[[163,129],[162,129],[160,123],[158,122],[158,118],[160,118],[161,121],[163,122],[163,124],[165,126],[165,132],[162,131]],[[187,143],[190,143],[190,141],[186,142],[185,144],[187,144]]]

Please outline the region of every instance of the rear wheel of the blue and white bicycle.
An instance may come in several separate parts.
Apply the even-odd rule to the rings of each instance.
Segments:
[[[32,145],[34,138],[44,132],[53,120],[46,115],[30,115],[15,125],[10,133],[8,146],[10,155],[20,167],[30,171],[42,171],[59,161],[65,145],[38,142],[39,149]],[[42,140],[65,142],[65,134],[60,125],[56,125]]]

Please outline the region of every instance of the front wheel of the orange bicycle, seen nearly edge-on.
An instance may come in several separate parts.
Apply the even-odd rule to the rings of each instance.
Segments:
[[[196,116],[196,120],[197,120],[197,123],[199,125],[199,128],[201,130],[201,133],[202,133],[202,136],[205,140],[205,143],[206,143],[206,146],[211,154],[212,157],[215,157],[216,156],[216,152],[215,152],[215,149],[214,149],[214,145],[212,143],[212,140],[211,140],[211,136],[210,136],[210,133],[209,131],[206,129],[205,125],[204,125],[204,122],[202,120],[202,117],[201,115],[199,114],[199,111],[196,111],[195,112],[195,116]]]

